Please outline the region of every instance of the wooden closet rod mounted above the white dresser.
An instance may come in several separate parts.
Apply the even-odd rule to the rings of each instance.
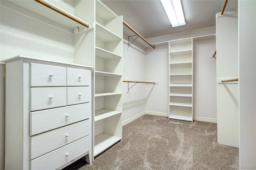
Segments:
[[[85,26],[87,28],[89,28],[89,24],[87,24],[86,22],[80,20],[79,18],[76,18],[74,16],[71,16],[70,14],[64,12],[61,9],[56,8],[55,6],[52,6],[51,4],[49,4],[48,2],[46,2],[45,0],[34,0],[40,4],[42,4],[43,6],[46,6],[47,8],[50,8],[51,10],[54,10],[55,12],[58,12],[59,14],[66,16],[67,18],[69,18],[70,20],[73,20],[79,24],[81,24],[82,26]]]

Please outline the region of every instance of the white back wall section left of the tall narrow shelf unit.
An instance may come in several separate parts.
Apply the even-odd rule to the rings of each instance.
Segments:
[[[145,80],[158,81],[156,85],[146,84],[146,111],[158,114],[164,113],[168,117],[168,46],[157,47],[148,53],[145,65]]]

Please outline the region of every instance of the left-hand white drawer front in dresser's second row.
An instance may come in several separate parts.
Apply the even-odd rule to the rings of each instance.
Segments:
[[[66,87],[30,88],[30,111],[67,105]]]

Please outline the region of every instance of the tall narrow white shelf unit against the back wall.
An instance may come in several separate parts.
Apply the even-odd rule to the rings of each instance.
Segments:
[[[169,42],[169,119],[193,122],[192,38]]]

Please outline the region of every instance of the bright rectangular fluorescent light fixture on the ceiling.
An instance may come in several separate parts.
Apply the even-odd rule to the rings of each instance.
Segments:
[[[186,24],[180,0],[160,0],[172,27]]]

